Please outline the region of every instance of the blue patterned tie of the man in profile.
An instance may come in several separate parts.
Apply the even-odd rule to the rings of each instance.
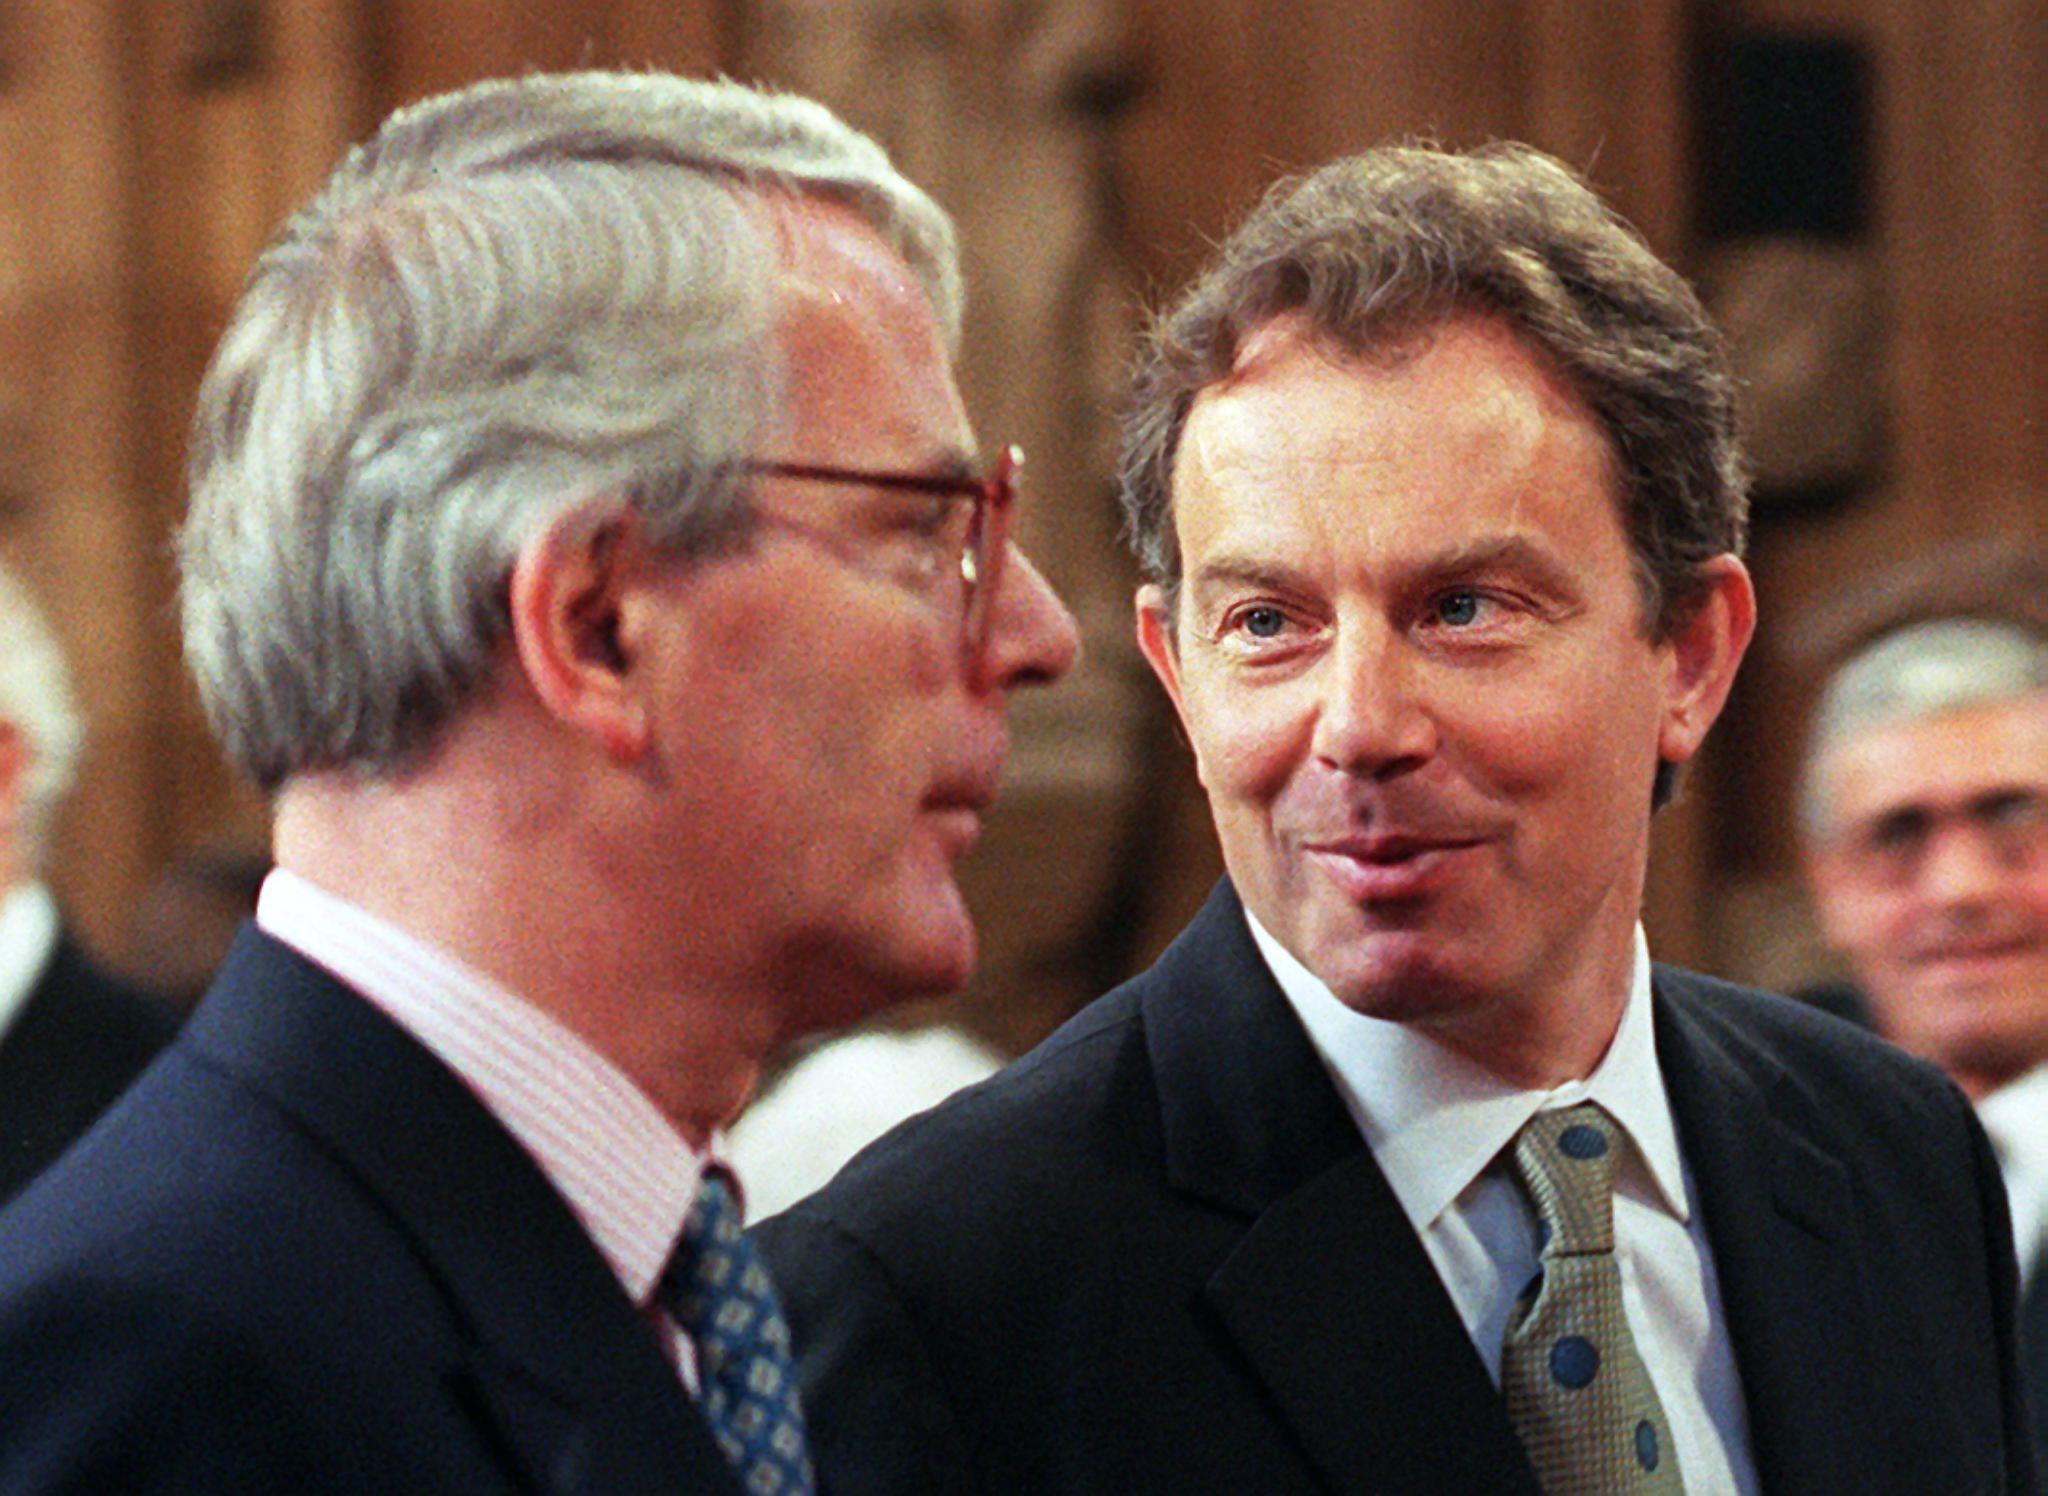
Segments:
[[[788,1322],[723,1174],[705,1174],[657,1297],[696,1344],[698,1408],[739,1486],[813,1496]]]

